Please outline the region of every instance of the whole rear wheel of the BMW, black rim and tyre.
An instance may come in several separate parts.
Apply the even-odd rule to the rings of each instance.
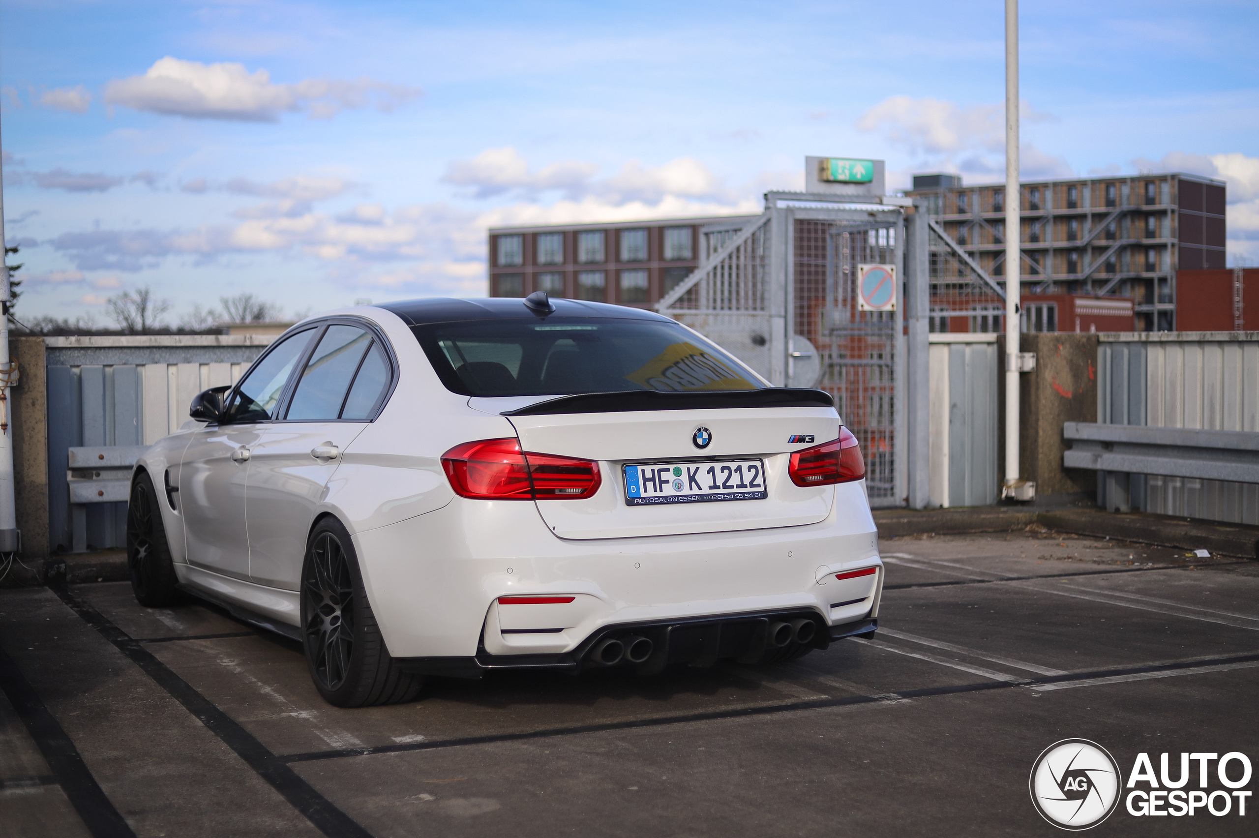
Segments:
[[[302,562],[302,647],[315,688],[336,707],[410,701],[423,676],[403,672],[389,656],[350,534],[336,518],[311,530]]]

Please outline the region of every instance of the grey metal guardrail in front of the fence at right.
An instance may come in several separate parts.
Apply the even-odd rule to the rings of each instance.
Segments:
[[[1063,423],[1066,468],[1259,483],[1259,433]]]

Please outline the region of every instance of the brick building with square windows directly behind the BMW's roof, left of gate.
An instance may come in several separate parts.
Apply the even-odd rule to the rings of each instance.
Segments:
[[[650,308],[699,267],[701,229],[754,215],[490,230],[490,296],[555,297]]]

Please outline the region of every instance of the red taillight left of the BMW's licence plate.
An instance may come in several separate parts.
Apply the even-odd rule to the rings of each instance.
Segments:
[[[496,501],[580,500],[599,489],[599,464],[575,457],[521,452],[515,439],[482,439],[442,454],[458,494]]]

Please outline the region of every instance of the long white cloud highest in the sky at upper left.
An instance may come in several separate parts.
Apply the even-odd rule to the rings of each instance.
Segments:
[[[305,79],[276,84],[264,69],[249,73],[244,64],[203,64],[179,58],[159,59],[144,75],[111,81],[104,101],[136,111],[194,120],[274,122],[281,113],[306,111],[330,118],[345,108],[392,111],[419,97],[417,87],[370,78],[354,81]]]

